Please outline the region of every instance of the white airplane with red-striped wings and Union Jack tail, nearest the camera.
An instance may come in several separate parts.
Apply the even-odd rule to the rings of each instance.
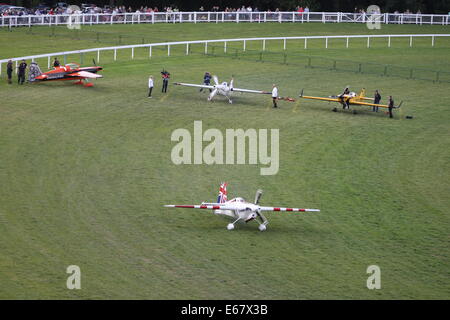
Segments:
[[[262,191],[257,190],[255,202],[250,203],[243,198],[233,198],[227,200],[227,183],[220,185],[219,196],[216,203],[202,202],[201,205],[165,205],[167,208],[191,208],[191,209],[211,209],[213,213],[219,216],[233,219],[232,223],[227,225],[228,230],[233,230],[236,222],[258,222],[258,229],[264,231],[267,229],[269,221],[262,214],[263,211],[289,211],[289,212],[319,212],[319,209],[300,209],[300,208],[280,208],[280,207],[262,207],[259,205]],[[258,219],[257,219],[258,218]],[[258,221],[259,220],[259,221]]]

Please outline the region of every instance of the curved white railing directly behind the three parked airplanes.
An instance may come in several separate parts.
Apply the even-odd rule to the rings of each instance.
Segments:
[[[391,47],[391,42],[393,38],[408,38],[409,39],[409,47],[413,46],[413,39],[415,38],[429,38],[430,40],[430,46],[434,47],[436,38],[440,37],[450,37],[450,34],[395,34],[395,35],[343,35],[343,36],[306,36],[306,37],[266,37],[266,38],[239,38],[239,39],[216,39],[216,40],[195,40],[195,41],[177,41],[177,42],[162,42],[162,43],[149,43],[149,44],[135,44],[135,45],[126,45],[126,46],[115,46],[115,47],[103,47],[103,48],[93,48],[93,49],[83,49],[83,50],[75,50],[75,51],[62,51],[62,52],[54,52],[54,53],[46,53],[46,54],[39,54],[39,55],[32,55],[32,56],[25,56],[25,57],[16,57],[16,58],[10,58],[10,59],[3,59],[0,60],[0,76],[2,74],[2,64],[7,63],[8,60],[12,60],[15,62],[16,68],[18,66],[18,62],[25,59],[25,60],[31,60],[35,61],[36,59],[42,59],[47,58],[47,68],[50,69],[51,66],[51,58],[52,57],[65,57],[67,55],[73,55],[73,54],[80,54],[83,55],[84,53],[88,52],[95,52],[97,54],[97,62],[100,62],[101,59],[101,52],[104,51],[112,51],[114,54],[114,61],[117,60],[117,51],[118,50],[125,50],[125,49],[131,49],[131,55],[128,57],[130,59],[134,59],[134,49],[136,48],[148,48],[148,57],[152,57],[152,49],[157,47],[163,47],[164,49],[167,48],[167,56],[170,56],[171,48],[174,46],[184,46],[185,47],[185,54],[189,55],[190,53],[190,46],[193,44],[200,44],[204,46],[203,53],[208,54],[208,44],[217,44],[222,43],[223,44],[223,51],[227,52],[227,44],[230,42],[241,42],[242,48],[245,51],[247,48],[248,42],[261,42],[261,50],[265,51],[267,49],[267,42],[268,41],[278,41],[281,42],[283,45],[283,50],[287,49],[287,42],[293,41],[293,40],[303,40],[304,44],[302,44],[302,47],[305,49],[308,48],[308,40],[313,39],[322,39],[324,41],[324,47],[325,49],[328,49],[329,47],[329,40],[330,39],[342,39],[346,40],[346,48],[350,45],[350,39],[367,39],[367,48],[370,48],[371,46],[371,39],[374,38],[382,38],[386,40],[387,47]]]

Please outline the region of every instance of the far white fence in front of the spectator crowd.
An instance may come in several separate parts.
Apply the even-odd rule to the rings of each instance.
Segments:
[[[133,12],[0,16],[0,27],[221,22],[321,22],[448,25],[450,15],[346,12]]]

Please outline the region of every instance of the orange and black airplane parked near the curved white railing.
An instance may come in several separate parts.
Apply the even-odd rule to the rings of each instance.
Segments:
[[[79,64],[69,63],[65,66],[55,67],[51,71],[42,73],[38,64],[32,62],[28,77],[30,82],[77,80],[75,84],[83,84],[84,80],[85,87],[92,87],[94,84],[88,82],[88,79],[102,78],[102,75],[97,74],[100,70],[103,70],[103,68],[97,66],[80,68]]]

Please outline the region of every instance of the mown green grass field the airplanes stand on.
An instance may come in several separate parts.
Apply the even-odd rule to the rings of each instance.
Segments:
[[[225,28],[225,29],[224,29]],[[250,36],[369,34],[346,24],[124,25],[0,30],[0,59],[122,43]],[[383,26],[379,33],[450,33],[444,26]],[[90,35],[102,32],[104,41]],[[372,32],[372,31],[370,31]],[[82,36],[80,36],[82,35]],[[108,38],[110,37],[110,38]],[[108,40],[109,39],[109,40]],[[236,44],[239,46],[240,44]],[[249,49],[259,50],[258,44]],[[233,47],[231,47],[233,48]],[[450,39],[409,48],[345,49],[333,43],[288,43],[289,54],[450,71]],[[178,51],[177,51],[178,50]],[[0,298],[2,299],[449,299],[450,99],[448,83],[305,68],[293,64],[204,56],[184,47],[165,57],[102,55],[95,87],[70,83],[0,83]],[[231,50],[231,49],[230,49]],[[268,43],[269,51],[280,45]],[[90,64],[95,54],[86,55]],[[62,57],[60,57],[62,59]],[[67,57],[68,62],[80,59]],[[46,59],[38,61],[46,67]],[[78,61],[79,62],[79,61]],[[280,102],[236,95],[207,102],[206,93],[158,77],[202,80],[208,70],[235,86],[297,97],[381,91],[403,100],[395,118],[332,104]],[[45,69],[45,68],[43,68]],[[148,75],[156,76],[148,99]],[[16,80],[16,78],[14,79]],[[405,119],[412,115],[411,120]],[[174,165],[172,131],[280,130],[280,170],[258,165]],[[320,208],[320,213],[268,213],[227,231],[208,211],[164,204],[214,201],[221,181],[229,197],[262,205]],[[366,269],[381,269],[380,290],[368,290]],[[81,290],[68,290],[66,268],[81,268]]]

